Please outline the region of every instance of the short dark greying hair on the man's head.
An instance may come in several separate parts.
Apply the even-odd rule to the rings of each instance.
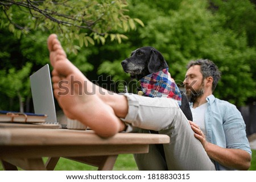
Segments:
[[[218,70],[217,65],[208,59],[192,60],[188,63],[187,69],[194,65],[200,65],[200,71],[203,75],[203,79],[211,76],[213,78],[212,91],[215,90],[218,80],[221,78],[221,72]]]

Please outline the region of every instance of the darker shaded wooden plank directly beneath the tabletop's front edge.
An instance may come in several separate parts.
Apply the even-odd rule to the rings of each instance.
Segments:
[[[142,154],[148,152],[148,145],[90,145],[90,146],[2,146],[0,159],[38,158],[41,156],[100,156],[118,154]]]

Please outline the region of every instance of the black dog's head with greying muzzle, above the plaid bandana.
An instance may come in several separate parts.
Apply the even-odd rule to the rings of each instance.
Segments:
[[[154,47],[136,49],[121,64],[123,71],[130,73],[131,78],[138,80],[150,73],[155,73],[168,67],[163,55]]]

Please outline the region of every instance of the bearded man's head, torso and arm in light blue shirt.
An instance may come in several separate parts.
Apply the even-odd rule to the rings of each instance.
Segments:
[[[245,122],[236,106],[213,96],[220,78],[217,66],[209,60],[197,60],[191,61],[187,68],[184,84],[191,101],[193,122],[190,123],[195,137],[214,160],[216,169],[240,168],[251,158]]]

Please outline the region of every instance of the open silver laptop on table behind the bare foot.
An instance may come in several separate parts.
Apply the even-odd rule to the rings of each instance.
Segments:
[[[48,115],[46,123],[61,125],[61,128],[66,128],[67,123],[57,121],[48,64],[30,76],[30,86],[35,114],[46,114]]]

